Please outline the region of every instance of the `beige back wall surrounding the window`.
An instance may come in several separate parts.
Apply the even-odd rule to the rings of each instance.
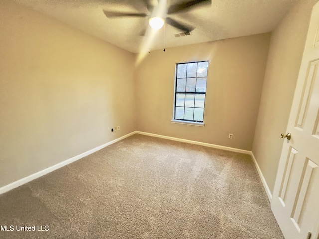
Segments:
[[[136,69],[137,129],[251,150],[269,40],[260,34],[147,54]],[[175,65],[202,60],[209,60],[206,126],[171,123]]]

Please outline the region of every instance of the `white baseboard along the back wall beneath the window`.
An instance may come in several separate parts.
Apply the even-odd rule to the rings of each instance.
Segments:
[[[192,140],[188,140],[188,139],[174,138],[174,137],[163,136],[163,135],[154,134],[154,133],[145,133],[145,132],[140,132],[140,131],[136,131],[136,133],[142,134],[142,135],[147,135],[147,136],[152,136],[152,137],[157,137],[157,138],[169,139],[169,140],[183,142],[183,143],[197,144],[197,145],[206,146],[206,147],[210,147],[210,148],[218,148],[218,149],[223,149],[223,150],[232,151],[232,152],[236,152],[236,153],[244,153],[244,154],[251,155],[251,151],[243,150],[243,149],[239,149],[239,148],[231,148],[231,147],[220,146],[220,145],[216,145],[216,144],[192,141]]]

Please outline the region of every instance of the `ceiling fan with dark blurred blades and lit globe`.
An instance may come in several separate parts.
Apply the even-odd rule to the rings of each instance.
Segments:
[[[116,17],[147,17],[149,20],[149,24],[154,29],[160,29],[164,22],[167,24],[181,30],[184,32],[191,32],[195,29],[193,26],[186,25],[182,22],[174,20],[168,15],[181,13],[181,12],[189,12],[192,9],[203,6],[203,5],[211,5],[211,0],[179,0],[178,3],[167,4],[167,0],[141,0],[145,5],[147,13],[145,9],[139,9],[139,13],[135,12],[119,12],[119,11],[110,11],[103,10],[104,14],[108,18],[116,18]],[[144,10],[144,11],[143,11]],[[140,32],[141,36],[145,35],[147,26],[144,26],[142,31]]]

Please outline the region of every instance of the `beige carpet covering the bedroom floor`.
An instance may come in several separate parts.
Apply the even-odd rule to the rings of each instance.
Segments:
[[[283,239],[249,155],[138,134],[0,195],[0,225],[14,226],[1,239]]]

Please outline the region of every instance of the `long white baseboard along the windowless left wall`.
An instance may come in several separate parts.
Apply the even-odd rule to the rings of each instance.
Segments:
[[[126,135],[124,135],[124,136],[122,136],[122,137],[120,137],[120,138],[114,139],[114,140],[112,140],[112,141],[110,141],[110,142],[108,142],[108,143],[105,143],[105,144],[101,145],[101,146],[98,146],[98,147],[96,147],[96,148],[93,148],[93,149],[91,149],[91,150],[89,150],[89,151],[86,151],[86,152],[81,153],[81,154],[79,154],[79,155],[77,155],[77,156],[74,156],[74,157],[72,157],[72,158],[69,158],[69,159],[67,159],[67,160],[65,160],[65,161],[63,161],[63,162],[57,163],[57,164],[55,164],[55,165],[53,165],[53,166],[51,166],[51,167],[48,167],[48,168],[43,169],[43,170],[41,170],[41,171],[39,171],[39,172],[36,172],[36,173],[33,173],[33,174],[29,175],[29,176],[26,176],[26,177],[24,177],[24,178],[21,178],[21,179],[15,181],[15,182],[13,182],[13,183],[10,183],[10,184],[8,184],[8,185],[5,185],[5,186],[3,186],[3,187],[0,188],[0,194],[5,193],[5,192],[8,192],[8,191],[10,191],[10,190],[12,190],[12,189],[14,189],[14,188],[17,188],[17,187],[19,187],[19,186],[21,186],[21,185],[23,185],[23,184],[25,184],[25,183],[28,183],[28,182],[30,182],[30,181],[36,179],[36,178],[39,178],[39,177],[41,177],[41,176],[43,176],[43,175],[45,175],[45,174],[48,174],[48,173],[50,173],[50,172],[52,172],[52,171],[54,171],[54,170],[57,170],[57,169],[59,169],[59,168],[65,166],[65,165],[68,165],[68,164],[70,164],[70,163],[73,163],[73,162],[75,162],[75,161],[77,161],[77,160],[79,160],[79,159],[81,159],[81,158],[83,158],[83,157],[85,157],[85,156],[88,156],[88,155],[90,155],[90,154],[92,154],[92,153],[94,153],[94,152],[96,152],[96,151],[98,151],[98,150],[100,150],[100,149],[102,149],[102,148],[104,148],[104,147],[106,147],[106,146],[109,146],[109,145],[111,145],[111,144],[113,144],[113,143],[116,143],[116,142],[118,142],[118,141],[120,141],[120,140],[122,140],[122,139],[124,139],[124,138],[127,138],[127,137],[129,137],[129,136],[131,136],[131,135],[133,135],[133,134],[135,134],[135,133],[136,133],[136,131],[134,131],[134,132],[132,132],[132,133],[129,133],[129,134],[126,134]]]

